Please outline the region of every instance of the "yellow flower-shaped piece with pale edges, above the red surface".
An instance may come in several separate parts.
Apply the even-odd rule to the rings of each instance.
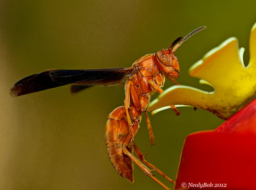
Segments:
[[[237,38],[228,38],[209,51],[189,69],[189,75],[209,84],[214,91],[202,91],[190,86],[172,86],[154,100],[148,111],[157,113],[170,105],[195,106],[223,119],[228,119],[256,97],[256,23],[250,35],[250,62],[243,63],[244,48]]]

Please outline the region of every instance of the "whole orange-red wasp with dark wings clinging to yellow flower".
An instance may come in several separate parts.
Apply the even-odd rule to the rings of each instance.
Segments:
[[[156,91],[163,92],[161,88],[164,85],[164,75],[173,83],[178,84],[175,79],[180,75],[180,68],[174,53],[183,42],[205,28],[205,26],[202,26],[184,38],[177,38],[168,49],[142,56],[131,67],[86,70],[49,69],[21,79],[13,85],[10,94],[13,97],[17,97],[66,84],[72,84],[72,93],[89,86],[125,84],[124,106],[114,109],[109,114],[106,124],[105,137],[109,159],[119,175],[129,180],[129,182],[134,182],[132,172],[133,162],[135,162],[147,176],[155,180],[164,189],[169,189],[152,175],[152,170],[148,169],[147,166],[156,170],[170,182],[173,183],[174,181],[157,169],[156,166],[145,160],[143,154],[134,143],[134,136],[136,136],[140,127],[141,113],[144,112],[150,142],[154,144],[154,134],[147,114],[150,97]],[[172,106],[172,109],[176,115],[179,115],[179,111],[175,106]],[[140,160],[132,154],[133,148]]]

